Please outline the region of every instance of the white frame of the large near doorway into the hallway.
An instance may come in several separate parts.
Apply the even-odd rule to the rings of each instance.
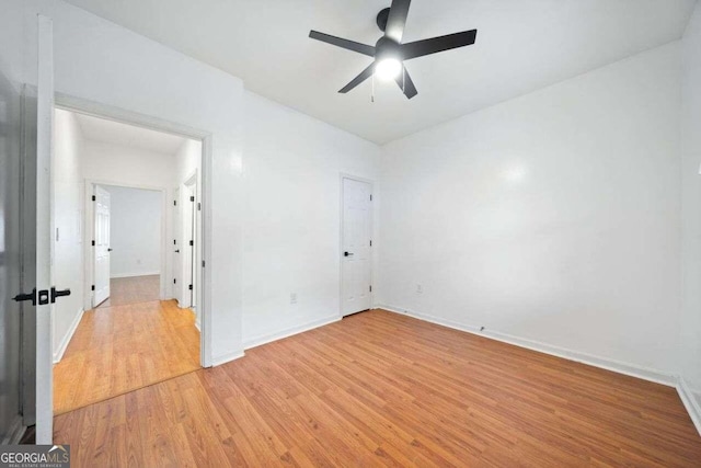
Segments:
[[[199,364],[203,367],[212,366],[211,354],[211,279],[206,269],[206,263],[211,259],[211,164],[212,164],[212,134],[208,130],[194,128],[187,125],[165,121],[159,117],[141,114],[110,104],[103,104],[81,98],[76,98],[65,93],[55,93],[55,106],[67,111],[88,114],[100,118],[136,125],[158,132],[165,132],[189,139],[202,141],[200,156],[200,194],[202,194],[202,214],[200,214],[200,239],[199,258],[202,263],[197,269],[200,277],[199,295],[197,296],[197,307],[200,310],[200,340],[199,340]],[[160,187],[159,187],[160,189]],[[163,212],[165,217],[165,212]],[[165,235],[165,233],[164,233]]]

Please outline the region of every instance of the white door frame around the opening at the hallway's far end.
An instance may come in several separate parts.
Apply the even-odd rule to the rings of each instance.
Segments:
[[[106,185],[116,186],[122,189],[136,189],[136,190],[148,190],[151,192],[160,192],[161,194],[161,236],[160,236],[160,247],[161,247],[161,266],[160,266],[160,275],[161,275],[161,284],[159,287],[159,298],[160,300],[169,299],[168,297],[168,277],[165,276],[168,273],[168,258],[166,258],[166,222],[165,222],[165,210],[168,209],[168,189],[166,187],[158,187],[158,186],[149,186],[149,185],[138,185],[138,184],[126,184],[123,182],[114,182],[106,180],[95,180],[95,179],[85,179],[84,180],[84,189],[85,195],[83,196],[84,208],[83,208],[83,220],[85,229],[83,229],[83,274],[84,274],[84,284],[83,284],[83,310],[91,310],[97,307],[99,305],[94,301],[94,294],[91,288],[93,284],[95,284],[95,249],[92,248],[92,240],[95,239],[95,204],[92,202],[92,195],[94,194],[95,186],[97,185]],[[89,236],[88,236],[89,235]],[[164,273],[165,272],[165,273]]]

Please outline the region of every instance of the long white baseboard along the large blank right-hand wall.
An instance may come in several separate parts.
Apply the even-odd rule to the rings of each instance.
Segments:
[[[620,361],[609,359],[606,357],[595,356],[588,353],[567,350],[560,346],[554,346],[548,343],[542,343],[535,340],[514,336],[514,335],[510,335],[507,333],[501,333],[497,331],[492,331],[492,330],[480,331],[480,327],[453,322],[450,320],[441,319],[439,317],[434,317],[426,313],[420,313],[412,310],[407,310],[401,307],[378,305],[377,308],[384,309],[390,312],[410,316],[415,319],[425,320],[427,322],[464,331],[468,333],[476,334],[480,336],[489,338],[489,339],[501,341],[504,343],[514,344],[516,346],[526,347],[528,350],[537,351],[540,353],[545,353],[553,356],[562,357],[568,361],[587,364],[587,365],[599,367],[607,370],[612,370],[614,373],[624,374],[631,377],[642,378],[643,380],[654,381],[656,384],[666,385],[668,387],[677,386],[677,377],[673,374],[668,374],[662,370],[652,369],[652,368],[639,366],[635,364],[623,363]]]

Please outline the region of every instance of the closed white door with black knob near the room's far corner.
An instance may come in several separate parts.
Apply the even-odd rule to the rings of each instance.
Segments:
[[[342,310],[343,315],[371,307],[372,186],[343,179]]]

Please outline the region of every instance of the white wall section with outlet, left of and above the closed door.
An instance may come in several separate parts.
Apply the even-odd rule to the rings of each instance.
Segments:
[[[248,347],[340,317],[341,173],[377,182],[380,150],[251,92],[245,115]]]

